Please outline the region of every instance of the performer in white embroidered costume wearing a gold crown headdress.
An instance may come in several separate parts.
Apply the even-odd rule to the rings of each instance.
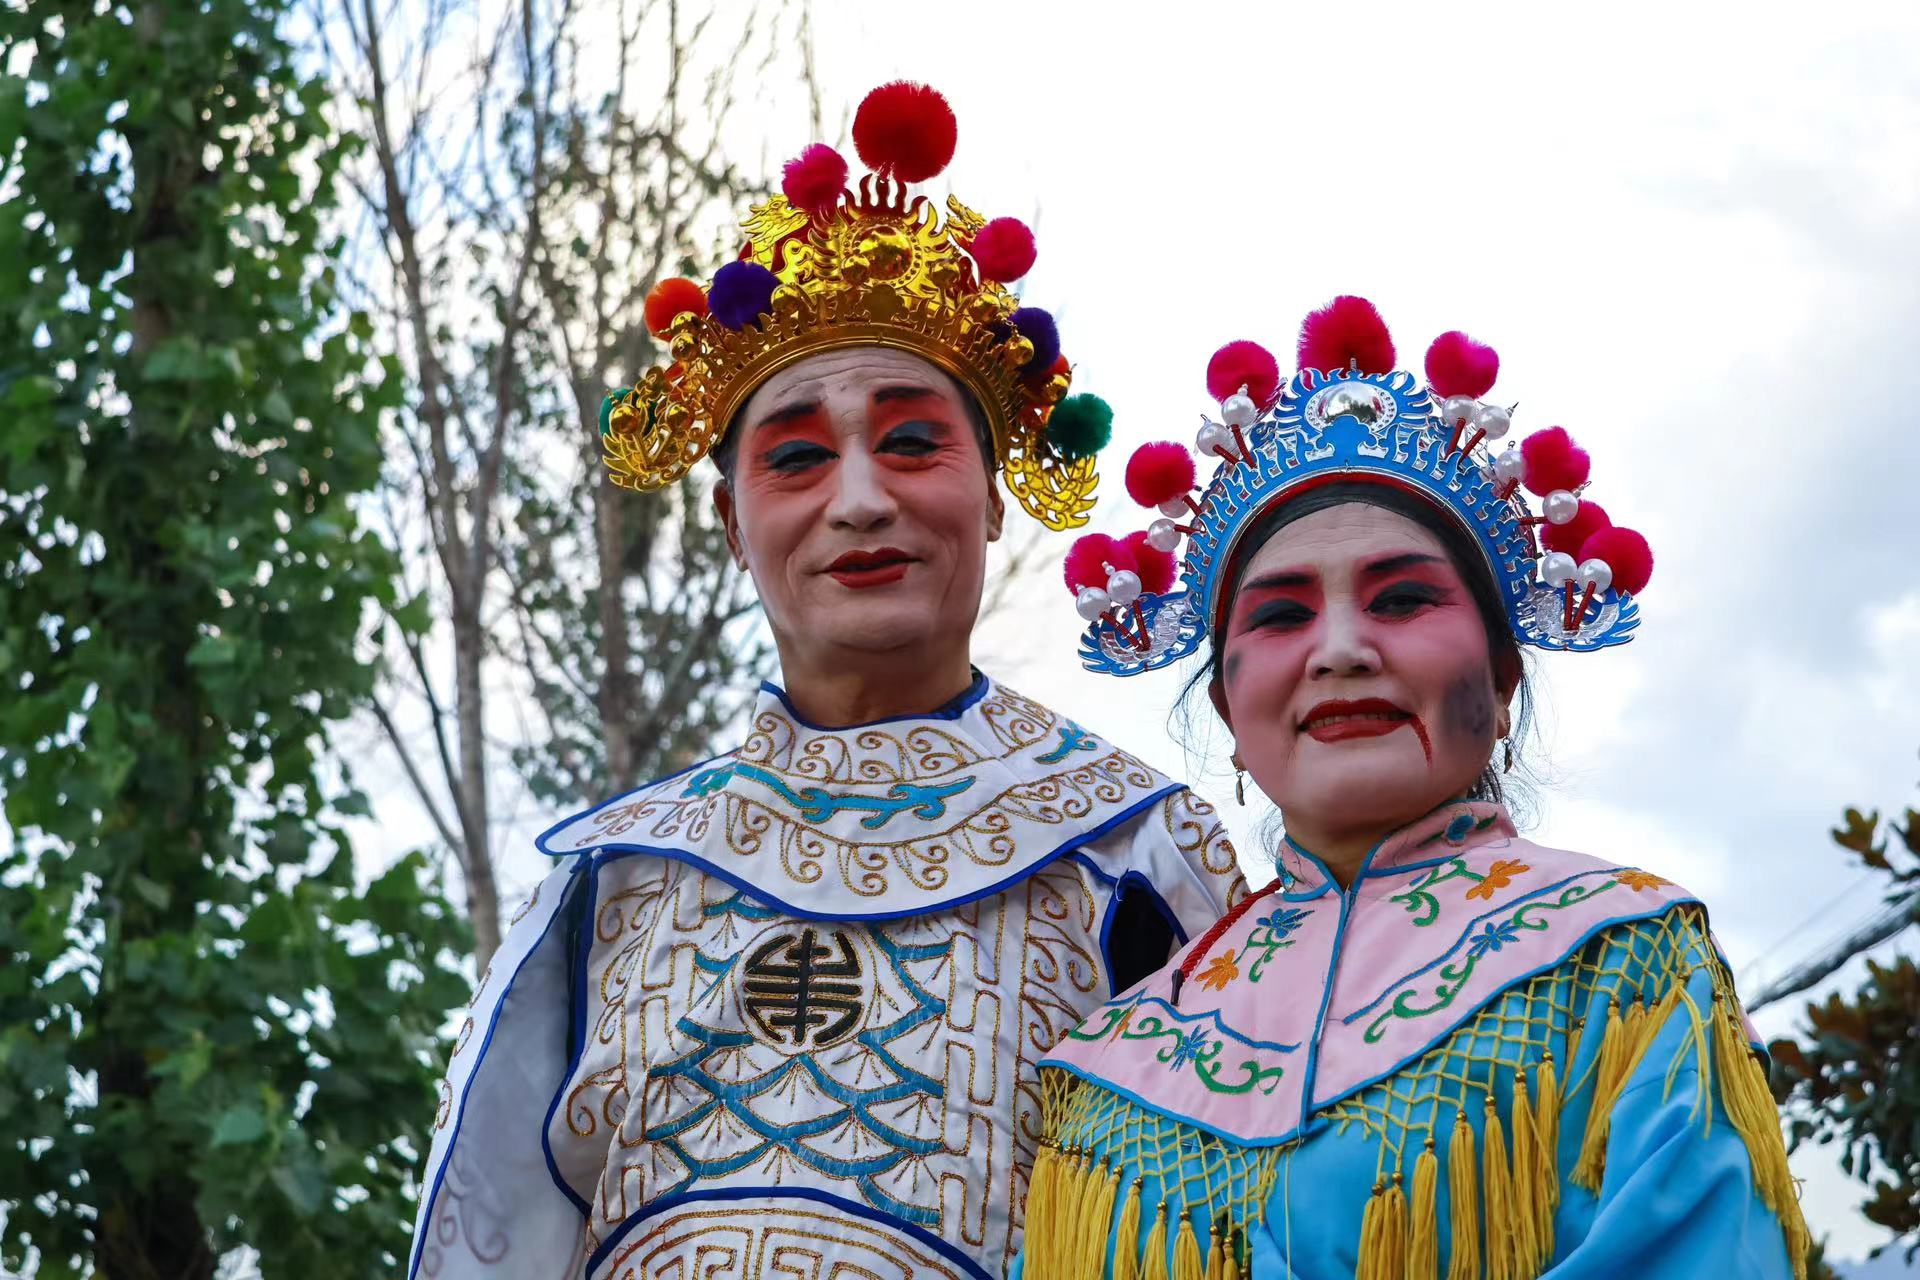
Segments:
[[[1041,1054],[1244,896],[1206,804],[972,668],[995,478],[1085,524],[1110,415],[1006,290],[1031,234],[908,192],[945,100],[889,84],[852,134],[858,186],[808,148],[710,286],[649,296],[672,365],[601,422],[632,489],[712,457],[785,689],[540,837],[411,1274],[998,1280]]]

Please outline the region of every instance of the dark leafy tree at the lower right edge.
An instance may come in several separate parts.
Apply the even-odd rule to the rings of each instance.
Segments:
[[[1920,814],[1882,819],[1847,810],[1834,841],[1887,879],[1889,915],[1910,921],[1920,900]],[[1793,1146],[1837,1144],[1841,1169],[1872,1188],[1860,1205],[1866,1219],[1895,1244],[1920,1247],[1920,965],[1908,956],[1870,960],[1864,984],[1811,1004],[1801,1034],[1774,1040],[1770,1052]]]

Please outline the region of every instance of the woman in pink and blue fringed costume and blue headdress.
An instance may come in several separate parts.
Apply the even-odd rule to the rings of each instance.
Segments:
[[[1511,411],[1465,334],[1423,388],[1342,297],[1298,363],[1213,357],[1202,491],[1183,445],[1129,464],[1165,503],[1146,545],[1187,541],[1181,589],[1102,603],[1125,549],[1069,553],[1085,662],[1206,647],[1196,685],[1286,839],[1279,879],[1043,1061],[1025,1278],[1803,1274],[1705,908],[1517,837],[1492,768],[1523,647],[1628,639],[1645,541],[1561,428],[1492,443]]]

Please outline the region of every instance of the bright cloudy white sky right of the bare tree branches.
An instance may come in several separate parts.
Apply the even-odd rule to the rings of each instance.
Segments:
[[[1538,664],[1532,835],[1692,887],[1745,990],[1876,904],[1826,829],[1920,781],[1920,6],[820,0],[814,44],[829,119],[939,86],[952,190],[1035,223],[1025,294],[1119,415],[1094,528],[1142,524],[1119,466],[1190,438],[1221,342],[1288,351],[1342,292],[1404,367],[1467,328],[1659,564],[1632,645]],[[772,161],[810,140],[791,98],[760,125]],[[1252,862],[1221,756],[1167,737],[1179,681],[1083,674],[1050,566],[983,666],[1190,777]],[[1797,1167],[1836,1253],[1880,1242]]]

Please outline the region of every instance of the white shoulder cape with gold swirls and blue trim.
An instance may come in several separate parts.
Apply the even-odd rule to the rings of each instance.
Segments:
[[[672,858],[804,919],[893,919],[996,894],[1181,789],[985,676],[927,716],[849,729],[762,685],[739,748],[538,844]]]

